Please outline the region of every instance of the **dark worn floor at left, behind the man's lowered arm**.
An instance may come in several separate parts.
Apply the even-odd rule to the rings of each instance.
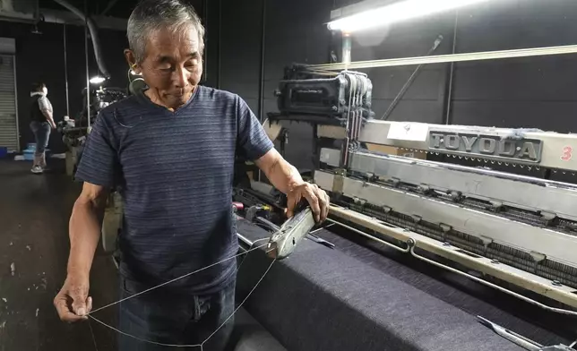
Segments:
[[[114,332],[94,321],[66,324],[52,305],[65,279],[68,218],[80,192],[62,161],[52,167],[33,175],[30,162],[0,160],[0,351],[115,350]],[[103,253],[92,266],[90,295],[95,307],[116,301],[116,267]],[[98,317],[116,325],[115,314],[112,307]]]

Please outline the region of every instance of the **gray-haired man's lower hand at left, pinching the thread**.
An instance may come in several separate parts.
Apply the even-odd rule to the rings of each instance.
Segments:
[[[92,298],[88,296],[89,278],[68,275],[65,284],[54,298],[54,306],[62,321],[86,321],[92,310]]]

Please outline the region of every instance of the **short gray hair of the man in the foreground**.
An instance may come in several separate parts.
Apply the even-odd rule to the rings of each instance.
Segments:
[[[180,0],[142,0],[128,19],[126,36],[137,63],[146,53],[149,36],[156,30],[178,30],[194,27],[198,33],[200,54],[204,50],[204,27],[193,6]]]

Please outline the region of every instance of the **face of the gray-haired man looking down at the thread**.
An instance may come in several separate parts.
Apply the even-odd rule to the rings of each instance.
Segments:
[[[146,45],[146,55],[135,67],[149,86],[153,102],[169,107],[183,106],[202,76],[202,55],[194,27],[154,32]]]

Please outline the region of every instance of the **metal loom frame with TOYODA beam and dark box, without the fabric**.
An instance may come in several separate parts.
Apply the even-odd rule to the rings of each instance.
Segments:
[[[264,125],[271,139],[280,120],[314,125],[313,181],[332,197],[330,220],[549,311],[577,315],[577,185],[508,171],[574,175],[577,134],[375,120],[366,113],[371,92],[363,90],[370,80],[355,83],[367,77],[340,74],[339,94],[332,94],[349,100],[333,114],[307,113],[298,101],[285,111],[285,97],[280,114]],[[280,86],[326,85],[310,78],[310,84]],[[383,154],[367,144],[468,159],[478,167]]]

